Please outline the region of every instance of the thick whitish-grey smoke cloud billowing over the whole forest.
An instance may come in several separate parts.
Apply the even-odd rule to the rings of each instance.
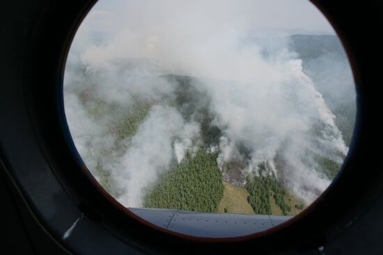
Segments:
[[[81,26],[65,73],[65,114],[79,154],[97,179],[111,176],[109,191],[122,204],[142,206],[171,161],[201,142],[198,121],[166,104],[177,84],[165,74],[196,77],[192,85],[210,99],[211,124],[222,131],[211,145],[220,167],[239,161],[245,174],[257,175],[265,164],[306,203],[329,186],[315,155],[341,163],[347,154],[335,116],[288,39],[247,40],[256,36],[251,10],[258,7],[246,0],[137,0],[116,13],[91,13]],[[117,25],[95,33],[96,17]],[[114,126],[137,102],[148,115],[132,137],[119,138]]]

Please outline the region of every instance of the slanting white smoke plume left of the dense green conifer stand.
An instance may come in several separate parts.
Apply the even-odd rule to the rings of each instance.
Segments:
[[[155,106],[139,130],[132,138],[125,154],[120,158],[120,165],[113,171],[121,194],[118,201],[130,207],[142,206],[146,189],[150,188],[159,174],[169,168],[173,158],[172,143],[175,137],[190,135],[185,140],[192,140],[198,135],[198,126],[185,124],[182,116],[169,106]],[[191,130],[192,129],[192,130]],[[192,142],[186,142],[191,146]],[[175,156],[183,158],[183,151],[175,151]]]

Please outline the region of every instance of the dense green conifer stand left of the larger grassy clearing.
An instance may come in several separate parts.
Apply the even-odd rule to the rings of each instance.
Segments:
[[[199,149],[195,156],[188,153],[179,164],[173,161],[169,172],[148,192],[143,206],[217,212],[224,184],[216,157]]]

